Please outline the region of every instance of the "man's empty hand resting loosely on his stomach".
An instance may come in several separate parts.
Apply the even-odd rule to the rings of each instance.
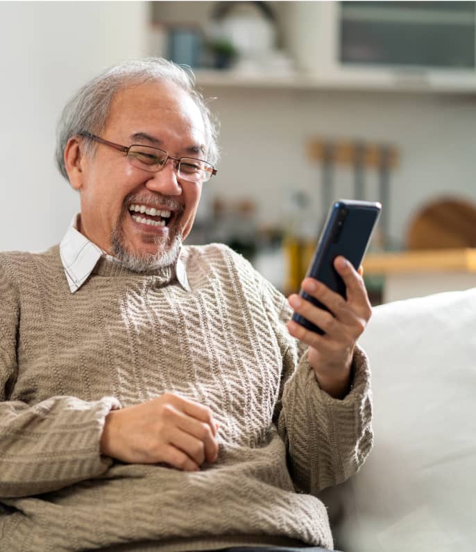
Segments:
[[[166,463],[192,472],[205,460],[216,460],[217,429],[210,408],[166,393],[110,411],[101,435],[101,454],[127,463]]]

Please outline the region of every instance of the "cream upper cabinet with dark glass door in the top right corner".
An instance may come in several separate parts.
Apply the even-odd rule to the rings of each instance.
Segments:
[[[476,92],[475,4],[296,2],[289,48],[324,86]]]

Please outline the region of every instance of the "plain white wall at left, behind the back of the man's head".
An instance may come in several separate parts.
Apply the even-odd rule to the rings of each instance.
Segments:
[[[56,121],[87,79],[146,53],[145,2],[0,2],[0,250],[58,243],[78,196],[53,164]]]

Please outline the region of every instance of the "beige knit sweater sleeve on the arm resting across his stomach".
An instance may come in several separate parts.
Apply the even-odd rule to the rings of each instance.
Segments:
[[[0,266],[0,499],[65,488],[103,474],[112,460],[101,456],[105,416],[117,399],[87,402],[51,397],[34,405],[10,400],[18,376],[20,293]]]

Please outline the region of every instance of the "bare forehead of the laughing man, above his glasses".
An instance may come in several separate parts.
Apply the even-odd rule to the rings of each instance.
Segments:
[[[130,85],[112,98],[105,130],[121,138],[144,132],[158,139],[205,140],[198,105],[175,83]]]

